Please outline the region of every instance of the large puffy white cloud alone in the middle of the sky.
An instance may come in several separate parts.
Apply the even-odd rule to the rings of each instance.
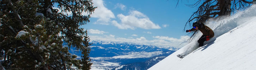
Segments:
[[[121,23],[117,21],[112,21],[112,24],[119,29],[160,29],[159,25],[153,23],[146,15],[143,13],[133,10],[129,12],[129,15],[125,16],[123,14],[118,14],[117,17],[121,20]]]

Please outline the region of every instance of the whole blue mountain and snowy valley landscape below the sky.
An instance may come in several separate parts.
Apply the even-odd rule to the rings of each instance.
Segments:
[[[90,46],[91,52],[89,54],[93,63],[91,70],[111,70],[113,68],[123,70],[122,67],[128,67],[127,69],[129,69],[129,66],[146,70],[174,52],[154,45],[104,41],[92,41],[91,43],[93,43]],[[74,49],[71,48],[70,51]],[[78,56],[81,55],[79,51],[72,51],[71,53]],[[143,63],[147,65],[138,65]]]

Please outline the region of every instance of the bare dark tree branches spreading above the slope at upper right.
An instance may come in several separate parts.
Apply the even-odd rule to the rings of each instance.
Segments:
[[[255,2],[256,0],[198,0],[194,4],[185,4],[191,8],[200,5],[196,12],[190,16],[189,20],[185,24],[185,27],[187,27],[188,23],[191,23],[192,21],[203,23],[210,18],[216,18],[221,15],[230,15],[231,12],[234,12],[234,10],[247,8],[251,3]],[[231,4],[233,5],[232,7]],[[191,26],[191,24],[189,24],[189,26]],[[183,30],[185,30],[185,27]]]

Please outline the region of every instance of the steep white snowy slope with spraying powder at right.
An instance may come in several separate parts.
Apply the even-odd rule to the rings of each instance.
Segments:
[[[214,30],[215,36],[225,34],[212,39],[211,42],[197,48],[183,59],[178,58],[176,55],[198,45],[196,41],[202,35],[199,32],[188,45],[148,70],[255,70],[255,12],[256,6],[251,6],[231,17],[208,21],[206,25]]]

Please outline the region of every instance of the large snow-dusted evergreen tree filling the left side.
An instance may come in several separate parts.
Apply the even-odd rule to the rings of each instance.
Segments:
[[[86,25],[92,0],[0,0],[0,53],[5,69],[89,70]],[[71,14],[67,14],[71,13]],[[76,47],[82,59],[69,53]]]

